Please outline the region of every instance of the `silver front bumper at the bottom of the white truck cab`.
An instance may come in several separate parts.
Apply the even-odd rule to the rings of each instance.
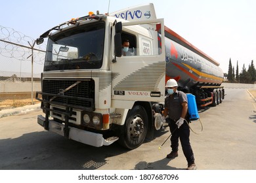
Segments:
[[[45,127],[45,117],[42,115],[37,116],[37,123],[43,127]],[[49,131],[53,131],[54,133],[58,133],[64,137],[64,124],[60,124],[55,122],[54,120],[49,120]],[[110,137],[108,139],[104,139],[102,134],[93,133],[91,131],[85,131],[82,129],[77,129],[75,127],[68,127],[69,135],[68,139],[72,139],[77,142],[82,142],[83,144],[88,144],[95,147],[100,146],[108,146],[113,142],[117,141],[118,137]]]

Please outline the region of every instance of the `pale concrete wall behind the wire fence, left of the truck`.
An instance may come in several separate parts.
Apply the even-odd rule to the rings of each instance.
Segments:
[[[0,93],[31,91],[31,82],[0,82]],[[41,82],[33,82],[33,92],[37,91],[41,91]]]

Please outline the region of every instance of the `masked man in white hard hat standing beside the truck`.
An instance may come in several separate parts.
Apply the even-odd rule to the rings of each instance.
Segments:
[[[168,122],[171,131],[171,153],[166,158],[174,159],[178,156],[179,139],[182,151],[188,162],[188,170],[195,170],[194,153],[190,145],[190,128],[188,125],[188,99],[184,92],[178,91],[175,79],[166,82],[167,96],[165,97],[165,109],[163,120]],[[166,118],[168,116],[168,118]]]

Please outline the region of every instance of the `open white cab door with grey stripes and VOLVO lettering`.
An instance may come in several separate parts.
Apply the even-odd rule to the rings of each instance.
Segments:
[[[115,33],[113,26],[112,35]],[[133,105],[134,101],[163,102],[165,96],[165,44],[164,39],[161,39],[164,38],[163,19],[123,22],[121,38],[123,41],[129,39],[130,54],[115,57],[114,36],[112,36],[110,53],[112,103]]]

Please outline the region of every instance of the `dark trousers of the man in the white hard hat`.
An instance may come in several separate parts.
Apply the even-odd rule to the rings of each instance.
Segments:
[[[186,119],[188,122],[188,119]],[[181,127],[178,129],[177,120],[171,120],[169,119],[169,127],[171,131],[171,150],[173,152],[178,152],[179,150],[179,138],[181,141],[182,150],[184,153],[184,156],[186,157],[186,161],[188,163],[194,163],[194,153],[190,145],[189,141],[189,135],[190,135],[190,129],[186,121],[181,125]]]

